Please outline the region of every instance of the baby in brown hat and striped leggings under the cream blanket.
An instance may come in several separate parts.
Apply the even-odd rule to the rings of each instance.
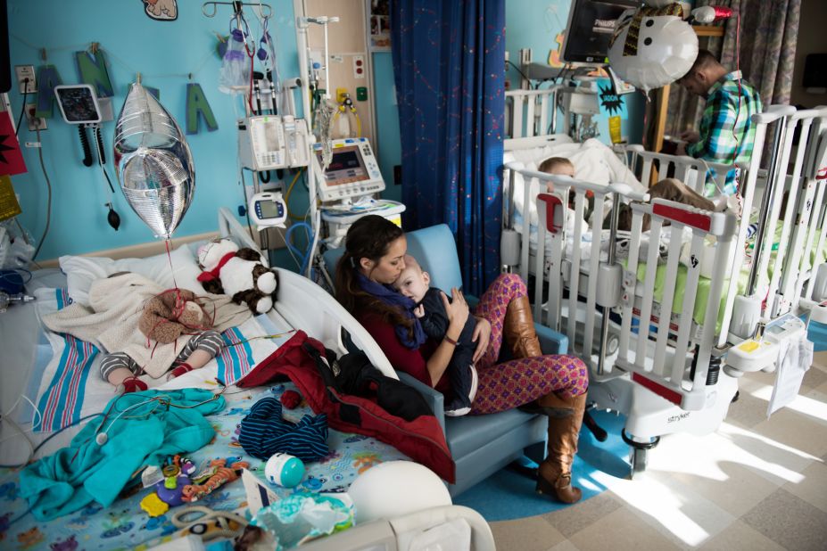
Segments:
[[[120,272],[110,277],[126,274]],[[208,328],[211,325],[194,293],[185,289],[163,292],[147,300],[138,321],[138,329],[153,346],[190,337],[170,366],[170,379],[205,366],[219,353],[224,341],[219,332]],[[107,354],[101,360],[103,379],[115,387],[122,385],[124,393],[147,390],[146,383],[137,378],[142,372],[142,367],[126,352]]]

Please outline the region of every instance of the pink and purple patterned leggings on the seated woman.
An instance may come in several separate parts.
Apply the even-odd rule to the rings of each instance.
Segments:
[[[562,398],[583,394],[589,386],[586,365],[574,356],[547,355],[512,359],[495,364],[502,346],[502,325],[511,300],[527,294],[515,274],[501,274],[483,293],[476,316],[491,323],[491,341],[477,362],[479,387],[471,405],[473,414],[489,414],[522,406],[555,392]]]

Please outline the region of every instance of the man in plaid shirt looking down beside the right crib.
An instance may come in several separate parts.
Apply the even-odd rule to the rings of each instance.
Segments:
[[[746,167],[756,134],[752,116],[761,111],[757,90],[741,79],[740,70],[728,72],[712,53],[703,49],[699,50],[691,70],[678,79],[678,84],[706,99],[707,107],[700,119],[699,131],[682,133],[681,139],[687,144],[679,144],[677,153]],[[737,193],[738,172],[734,169],[727,174],[724,190],[716,190],[707,178],[704,194]]]

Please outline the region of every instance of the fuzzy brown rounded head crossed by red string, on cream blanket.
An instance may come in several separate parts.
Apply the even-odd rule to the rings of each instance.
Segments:
[[[198,303],[195,293],[170,289],[147,300],[138,319],[138,329],[153,341],[167,344],[183,333],[212,328],[212,319]]]

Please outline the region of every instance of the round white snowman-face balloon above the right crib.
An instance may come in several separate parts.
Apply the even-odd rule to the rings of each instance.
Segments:
[[[677,15],[649,14],[653,12],[624,13],[608,48],[617,76],[646,93],[681,78],[698,57],[698,36],[691,25]]]

